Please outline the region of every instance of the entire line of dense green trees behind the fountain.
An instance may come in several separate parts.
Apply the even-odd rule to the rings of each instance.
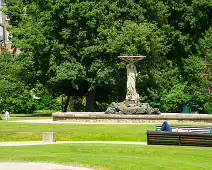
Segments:
[[[1,109],[104,111],[126,93],[117,56],[145,55],[136,63],[142,102],[162,112],[212,111],[211,0],[6,2],[22,53],[0,56]]]

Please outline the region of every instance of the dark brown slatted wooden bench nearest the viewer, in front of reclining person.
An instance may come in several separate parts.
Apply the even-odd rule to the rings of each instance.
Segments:
[[[147,144],[212,147],[212,135],[195,132],[147,131]]]

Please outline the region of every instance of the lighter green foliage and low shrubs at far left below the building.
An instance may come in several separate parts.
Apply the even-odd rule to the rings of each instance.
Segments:
[[[29,72],[24,72],[27,61],[14,57],[7,51],[0,55],[0,110],[11,113],[30,113],[34,110],[58,110],[59,103],[47,89],[33,88],[29,81]],[[36,97],[36,95],[41,97]]]

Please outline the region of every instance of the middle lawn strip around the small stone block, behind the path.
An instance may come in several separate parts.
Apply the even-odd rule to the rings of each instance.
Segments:
[[[57,141],[146,141],[153,124],[31,124],[0,121],[0,142],[41,141],[43,132],[56,132]]]

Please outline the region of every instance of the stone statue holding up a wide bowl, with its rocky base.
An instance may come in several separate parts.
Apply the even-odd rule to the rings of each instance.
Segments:
[[[127,64],[127,94],[123,102],[111,105],[105,111],[106,114],[159,114],[159,109],[152,108],[148,103],[141,103],[136,91],[136,77],[138,75],[135,62],[143,60],[145,56],[119,56]]]

